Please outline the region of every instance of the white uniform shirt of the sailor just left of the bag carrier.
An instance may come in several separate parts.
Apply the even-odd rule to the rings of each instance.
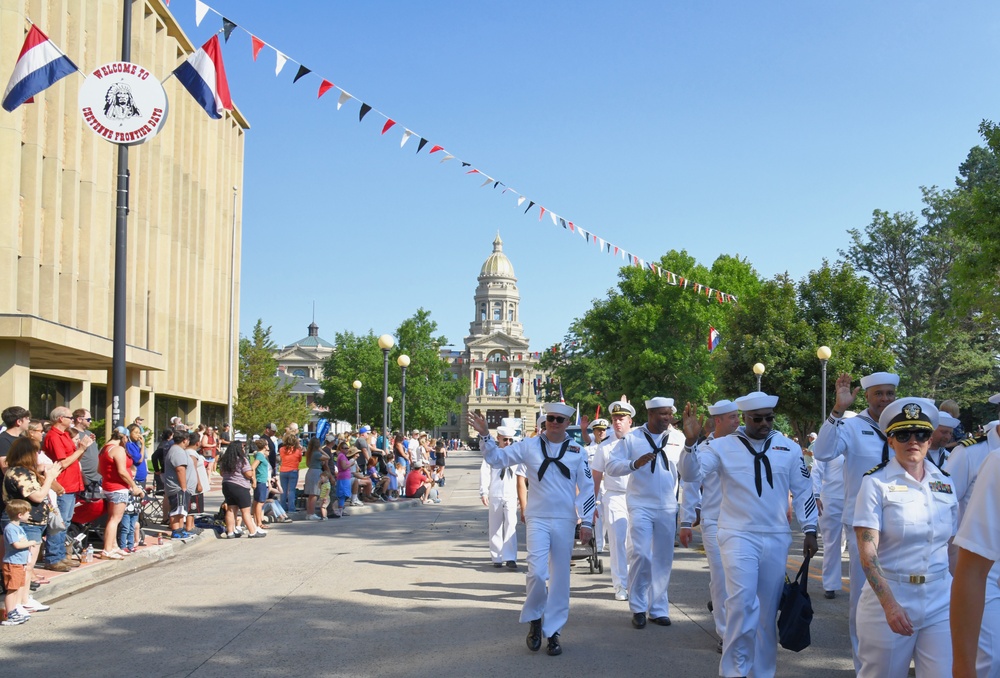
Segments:
[[[655,448],[646,436],[652,438],[656,447],[663,449],[650,463],[634,468],[632,462]],[[684,448],[684,434],[674,427],[663,433],[651,433],[643,424],[624,436],[611,450],[611,458],[606,472],[610,476],[629,476],[626,502],[628,506],[677,511],[677,489],[680,474],[675,459],[680,458]],[[666,458],[666,468],[663,460]],[[631,475],[630,475],[631,474]]]

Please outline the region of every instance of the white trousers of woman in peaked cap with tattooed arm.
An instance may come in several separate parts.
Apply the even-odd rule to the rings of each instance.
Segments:
[[[913,624],[913,635],[893,633],[878,596],[866,585],[857,614],[859,678],[906,678],[911,659],[918,676],[950,676],[951,577],[926,584],[890,581],[889,588],[896,602],[906,610]]]

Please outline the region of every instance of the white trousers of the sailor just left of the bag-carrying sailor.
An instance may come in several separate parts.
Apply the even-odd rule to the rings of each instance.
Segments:
[[[667,588],[674,567],[677,512],[629,507],[628,531],[632,550],[628,561],[628,606],[633,614],[669,617]]]

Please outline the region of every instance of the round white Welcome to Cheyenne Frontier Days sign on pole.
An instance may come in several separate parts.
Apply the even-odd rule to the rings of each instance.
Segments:
[[[142,66],[104,64],[80,86],[80,113],[95,134],[114,144],[149,141],[167,119],[167,93]]]

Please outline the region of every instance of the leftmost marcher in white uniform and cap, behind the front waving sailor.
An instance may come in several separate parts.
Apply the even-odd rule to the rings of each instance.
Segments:
[[[497,427],[497,447],[514,442],[517,431]],[[485,461],[479,467],[479,497],[489,509],[490,559],[493,567],[517,569],[517,476],[524,475],[520,464],[493,468]]]

